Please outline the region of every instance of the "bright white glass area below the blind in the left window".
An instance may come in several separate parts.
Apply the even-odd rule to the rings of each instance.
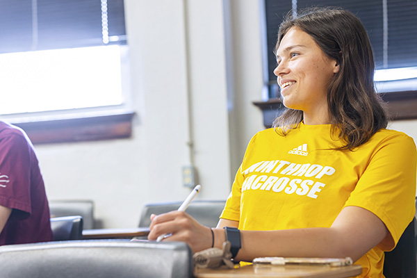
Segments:
[[[2,114],[122,104],[120,47],[0,55]],[[24,77],[23,77],[24,76]]]

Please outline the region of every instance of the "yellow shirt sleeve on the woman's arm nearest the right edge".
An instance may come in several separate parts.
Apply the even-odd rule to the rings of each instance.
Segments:
[[[416,213],[416,145],[404,133],[382,140],[345,206],[377,215],[390,235],[377,247],[393,250]]]

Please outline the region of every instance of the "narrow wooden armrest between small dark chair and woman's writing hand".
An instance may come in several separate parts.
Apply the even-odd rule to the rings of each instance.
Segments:
[[[147,236],[148,234],[149,227],[130,229],[88,229],[83,230],[83,239],[133,238],[135,236]]]

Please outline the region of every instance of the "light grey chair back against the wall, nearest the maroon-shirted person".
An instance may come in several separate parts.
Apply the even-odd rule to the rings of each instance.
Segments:
[[[51,218],[81,215],[83,229],[95,229],[94,202],[88,199],[49,200]]]

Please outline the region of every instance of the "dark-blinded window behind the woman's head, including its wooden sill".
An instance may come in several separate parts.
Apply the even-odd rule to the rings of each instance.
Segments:
[[[311,6],[340,6],[357,15],[368,32],[375,55],[375,86],[389,102],[393,120],[417,118],[417,1],[415,0],[261,0],[263,42],[263,123],[269,127],[284,108],[273,73],[273,49],[279,24],[290,11]]]

